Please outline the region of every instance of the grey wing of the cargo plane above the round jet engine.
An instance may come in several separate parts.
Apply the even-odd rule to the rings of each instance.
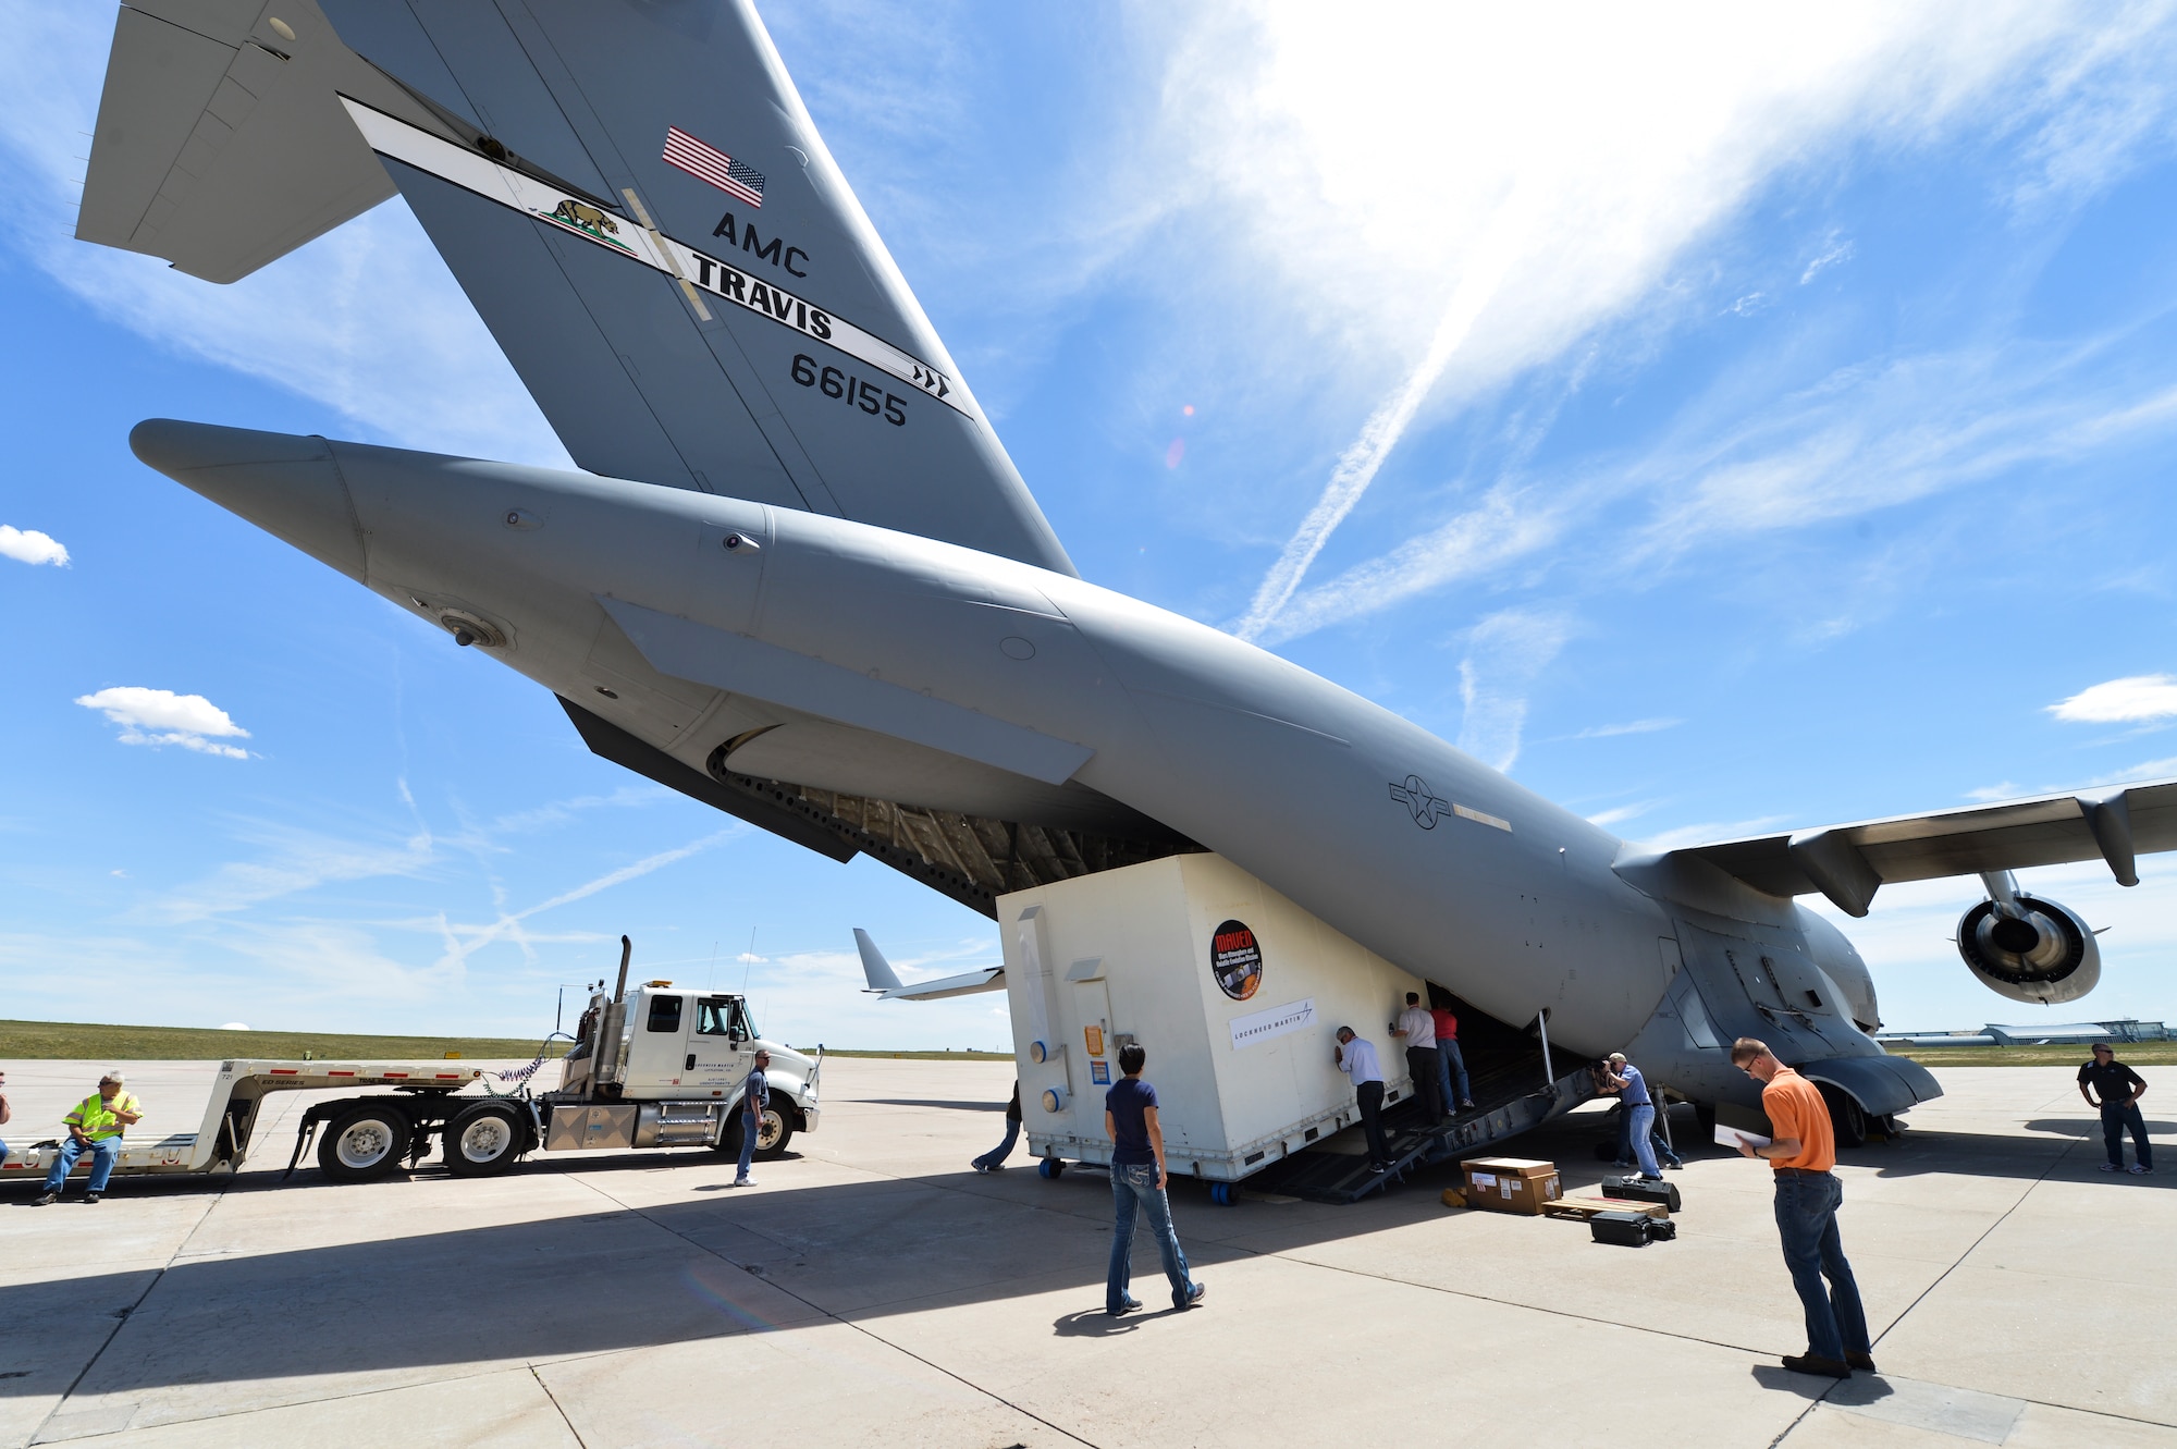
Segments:
[[[2136,857],[2147,851],[2177,851],[2177,779],[1748,835],[1668,857],[1709,862],[1772,896],[1822,892],[1837,909],[1866,916],[1885,881],[2096,857],[2120,886],[2138,886]]]

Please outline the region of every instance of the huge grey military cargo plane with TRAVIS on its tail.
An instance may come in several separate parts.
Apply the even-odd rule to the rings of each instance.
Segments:
[[[394,191],[586,472],[163,420],[137,455],[834,859],[997,916],[1210,851],[1500,1023],[1739,1107],[1761,1036],[1879,1118],[1938,1088],[1794,896],[1981,875],[1968,968],[2057,1003],[2094,936],[2009,872],[2177,846],[2151,781],[1648,853],[1080,579],[745,0],[120,11],[78,237],[226,283]]]

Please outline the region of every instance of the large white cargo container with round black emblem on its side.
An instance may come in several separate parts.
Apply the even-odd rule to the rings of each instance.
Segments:
[[[1104,1092],[1141,1042],[1171,1173],[1237,1181],[1358,1123],[1337,1029],[1376,1044],[1422,981],[1221,855],[1173,855],[999,899],[1030,1151],[1110,1162]]]

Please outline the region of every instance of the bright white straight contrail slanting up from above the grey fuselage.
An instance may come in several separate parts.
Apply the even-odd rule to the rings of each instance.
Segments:
[[[1324,496],[1315,500],[1315,507],[1300,522],[1300,531],[1284,544],[1284,553],[1263,574],[1263,585],[1254,592],[1254,603],[1247,605],[1247,614],[1232,627],[1232,633],[1243,640],[1256,640],[1269,629],[1293,598],[1300,581],[1308,577],[1315,555],[1324,550],[1337,527],[1361,503],[1361,494],[1376,481],[1382,459],[1398,446],[1398,439],[1406,433],[1406,424],[1413,422],[1413,416],[1428,398],[1428,389],[1443,376],[1443,368],[1450,366],[1474,331],[1474,320],[1504,283],[1504,272],[1515,261],[1515,242],[1526,235],[1526,226],[1522,224],[1524,213],[1526,207],[1517,194],[1498,211],[1465,276],[1459,278],[1459,289],[1452,292],[1452,300],[1443,309],[1443,320],[1437,322],[1437,335],[1428,342],[1428,352],[1422,355],[1422,361],[1406,374],[1398,392],[1391,394],[1391,400],[1369,416],[1361,429],[1361,437],[1339,455],[1339,466],[1330,472]]]

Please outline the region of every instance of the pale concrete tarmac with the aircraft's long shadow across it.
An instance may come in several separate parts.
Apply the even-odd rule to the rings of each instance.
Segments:
[[[52,1136],[100,1066],[11,1064],[7,1136]],[[144,1131],[194,1131],[211,1075],[133,1064]],[[1008,1064],[834,1060],[823,1129],[747,1190],[703,1151],[281,1186],[294,1092],[226,1184],[9,1184],[0,1445],[2177,1447],[2177,1070],[2144,1075],[2157,1177],[2094,1171],[2068,1068],[1940,1070],[1901,1142],[1848,1153],[1881,1373],[1844,1384],[1776,1364],[1805,1334],[1770,1173],[1713,1147],[1646,1249],[1446,1210],[1441,1168],[1354,1208],[1176,1181],[1206,1305],[1165,1310],[1136,1236],[1149,1310],[1106,1318],[1106,1179],[967,1168]],[[1511,1151],[1578,1190],[1598,1136]]]

